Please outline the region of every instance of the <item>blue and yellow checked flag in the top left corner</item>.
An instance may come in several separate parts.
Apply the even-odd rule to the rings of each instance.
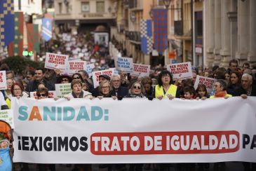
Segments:
[[[13,0],[0,0],[0,42],[8,46],[14,39],[14,4]]]

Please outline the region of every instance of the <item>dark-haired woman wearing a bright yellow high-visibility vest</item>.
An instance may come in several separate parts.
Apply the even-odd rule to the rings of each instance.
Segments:
[[[154,95],[159,100],[168,97],[173,99],[174,97],[180,97],[177,86],[172,84],[173,75],[170,71],[161,71],[158,78],[158,85],[154,89]]]

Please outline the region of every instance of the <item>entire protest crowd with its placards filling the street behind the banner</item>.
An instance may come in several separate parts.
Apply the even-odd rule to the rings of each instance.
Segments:
[[[167,67],[133,64],[134,68],[140,67],[142,71],[142,73],[134,74],[133,71],[128,71],[126,67],[123,67],[128,60],[125,59],[126,50],[123,50],[119,43],[114,42],[112,45],[119,51],[120,55],[117,57],[123,57],[124,61],[120,59],[116,61],[113,54],[109,53],[109,48],[97,45],[91,39],[86,41],[83,35],[60,34],[58,37],[61,44],[55,46],[53,42],[50,42],[47,52],[55,54],[53,55],[55,57],[67,55],[69,62],[73,62],[69,65],[74,65],[70,68],[73,67],[76,72],[71,71],[72,69],[28,67],[22,76],[18,76],[2,63],[0,69],[6,71],[6,90],[1,90],[0,93],[2,110],[11,109],[11,97],[36,99],[51,97],[55,100],[60,97],[65,97],[67,100],[72,98],[92,100],[108,97],[117,101],[123,98],[207,100],[207,98],[215,97],[241,96],[245,99],[248,96],[256,96],[256,66],[250,67],[247,62],[238,64],[236,60],[231,60],[228,69],[218,66],[189,67],[187,62]],[[81,61],[86,62],[81,63]],[[79,67],[74,62],[77,62]],[[59,60],[58,64],[61,63],[67,65],[65,60]],[[94,64],[94,67],[90,64]],[[184,72],[187,72],[187,78],[186,76],[179,78],[179,75]],[[58,84],[58,87],[55,84]],[[28,170],[28,165],[25,163],[14,165],[15,170]],[[168,164],[100,165],[101,168],[108,168],[108,170],[126,170],[127,167],[130,171],[142,170],[142,168],[144,170],[149,168],[168,170],[170,166],[173,167]],[[256,170],[255,163],[243,163],[243,166],[245,170]],[[67,167],[70,167],[70,170],[91,170],[91,165],[67,165]],[[175,164],[175,167],[177,170],[195,170],[196,168],[208,170],[209,164],[184,163]],[[224,163],[215,163],[215,170],[224,170],[224,167]],[[55,170],[55,165],[39,165],[38,168],[39,170],[46,170],[46,168]]]

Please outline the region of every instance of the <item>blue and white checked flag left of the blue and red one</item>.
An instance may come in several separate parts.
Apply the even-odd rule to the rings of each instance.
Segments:
[[[140,20],[141,49],[149,55],[153,50],[152,20]]]

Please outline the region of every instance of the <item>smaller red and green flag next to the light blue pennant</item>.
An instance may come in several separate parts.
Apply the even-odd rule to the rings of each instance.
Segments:
[[[27,50],[29,52],[40,53],[40,35],[39,27],[34,24],[27,24]]]

